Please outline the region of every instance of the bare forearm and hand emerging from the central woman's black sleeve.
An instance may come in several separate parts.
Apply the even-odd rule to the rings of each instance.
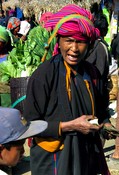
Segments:
[[[78,131],[82,134],[88,134],[92,131],[98,131],[103,125],[91,124],[89,120],[92,119],[92,115],[83,115],[74,120],[61,123],[62,132]]]

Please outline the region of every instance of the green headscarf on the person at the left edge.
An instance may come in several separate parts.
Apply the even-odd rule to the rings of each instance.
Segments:
[[[6,28],[0,25],[0,41],[8,42],[9,40],[9,33],[7,32]]]

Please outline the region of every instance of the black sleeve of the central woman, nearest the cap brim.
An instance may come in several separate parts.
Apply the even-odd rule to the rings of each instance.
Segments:
[[[24,117],[27,121],[46,120],[48,99],[53,83],[52,67],[41,67],[29,79],[25,100]],[[42,137],[59,137],[59,121],[47,121],[48,128],[40,134]]]

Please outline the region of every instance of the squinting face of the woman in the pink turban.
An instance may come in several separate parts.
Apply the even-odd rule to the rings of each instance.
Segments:
[[[60,37],[59,48],[64,60],[70,66],[75,66],[84,59],[87,53],[88,43],[72,37]]]

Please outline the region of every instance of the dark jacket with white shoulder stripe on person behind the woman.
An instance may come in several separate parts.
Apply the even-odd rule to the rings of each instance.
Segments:
[[[92,49],[89,50],[86,61],[93,64],[99,72],[98,89],[102,96],[102,101],[105,106],[108,106],[109,91],[108,91],[108,76],[109,65],[111,63],[111,54],[108,50],[107,43],[99,38],[95,41]]]

